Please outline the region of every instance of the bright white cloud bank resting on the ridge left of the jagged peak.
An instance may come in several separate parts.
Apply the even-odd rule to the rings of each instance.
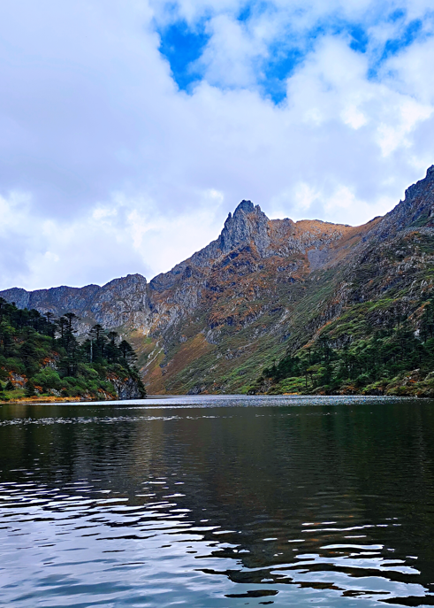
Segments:
[[[155,201],[113,196],[111,205],[68,219],[44,219],[25,193],[0,197],[0,270],[6,284],[27,289],[91,282],[173,266],[215,238],[223,195],[202,192],[201,205],[167,214]],[[212,206],[210,212],[209,207]],[[23,248],[23,244],[27,245]],[[97,281],[95,281],[97,277]]]

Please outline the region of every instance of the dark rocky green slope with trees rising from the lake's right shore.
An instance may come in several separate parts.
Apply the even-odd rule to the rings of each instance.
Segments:
[[[300,360],[296,373],[281,377],[269,358],[269,372],[259,375],[250,390],[434,396],[434,342],[427,316],[434,289],[430,231],[409,230],[373,247],[350,271],[330,273],[312,276],[315,287],[294,312],[286,359]],[[346,296],[339,303],[342,284]],[[333,307],[336,314],[328,319]],[[324,343],[331,351],[328,361]],[[353,373],[342,371],[348,361]]]

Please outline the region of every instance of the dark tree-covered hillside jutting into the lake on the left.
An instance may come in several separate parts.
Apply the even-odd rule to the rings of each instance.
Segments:
[[[0,401],[146,395],[129,342],[100,325],[79,342],[73,313],[52,317],[0,297]]]

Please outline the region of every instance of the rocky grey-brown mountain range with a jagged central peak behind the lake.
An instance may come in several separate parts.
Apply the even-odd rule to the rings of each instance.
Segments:
[[[264,366],[316,343],[353,309],[381,327],[399,308],[417,331],[433,255],[434,166],[392,212],[360,227],[268,219],[242,201],[216,241],[149,283],[133,274],[103,287],[0,296],[74,312],[82,334],[95,322],[117,328],[138,352],[150,394],[265,390]],[[331,348],[353,340],[351,328],[333,331]]]

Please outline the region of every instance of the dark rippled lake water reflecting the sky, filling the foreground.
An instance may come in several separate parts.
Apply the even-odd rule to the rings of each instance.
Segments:
[[[1,606],[434,605],[434,401],[0,407]]]

